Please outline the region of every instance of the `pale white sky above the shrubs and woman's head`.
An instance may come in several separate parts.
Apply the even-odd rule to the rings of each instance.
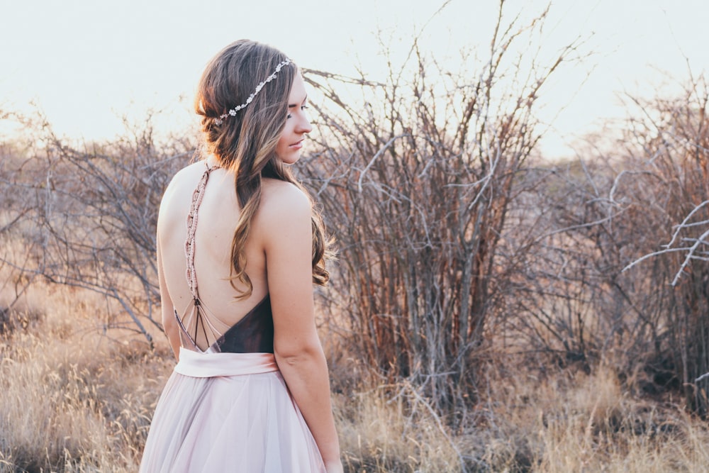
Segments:
[[[272,44],[298,65],[352,74],[359,63],[382,74],[377,32],[402,57],[414,31],[442,0],[0,0],[0,108],[30,112],[30,102],[71,138],[110,138],[118,116],[143,118],[147,108],[182,130],[204,65],[239,38]],[[448,58],[486,45],[495,0],[451,0],[432,18],[421,42]],[[511,18],[532,16],[547,1],[508,0]],[[683,82],[709,67],[703,40],[706,0],[554,0],[542,50],[549,55],[581,35],[593,52],[554,76],[543,90],[542,145],[569,152],[574,137],[623,114],[618,93],[649,94],[669,72]],[[182,97],[182,99],[181,99]],[[9,136],[0,127],[0,139]],[[4,138],[5,137],[5,138]]]

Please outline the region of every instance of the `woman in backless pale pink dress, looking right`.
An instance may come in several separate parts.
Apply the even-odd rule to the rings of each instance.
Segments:
[[[312,130],[306,99],[296,65],[252,41],[228,45],[203,73],[206,157],[172,179],[157,223],[178,363],[141,472],[342,471],[313,315],[327,242],[286,167]]]

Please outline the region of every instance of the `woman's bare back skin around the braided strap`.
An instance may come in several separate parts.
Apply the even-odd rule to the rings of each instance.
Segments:
[[[207,169],[206,162],[196,162],[182,169],[174,177],[165,191],[160,206],[158,221],[158,238],[164,282],[169,292],[169,301],[178,316],[184,316],[191,307],[191,293],[186,269],[188,267],[185,254],[187,239],[187,215],[195,189],[199,187]],[[231,243],[240,216],[240,208],[236,198],[233,174],[224,169],[213,169],[201,203],[196,212],[196,230],[194,238],[194,275],[196,290],[203,308],[206,309],[208,322],[218,333],[211,333],[207,340],[197,331],[197,344],[206,348],[219,335],[245,316],[268,293],[265,271],[265,255],[257,238],[248,238],[245,247],[247,258],[247,274],[253,284],[252,294],[246,299],[236,299],[239,292],[230,283]],[[255,219],[255,223],[257,223]],[[239,289],[245,289],[237,284]],[[166,301],[163,301],[163,304]],[[164,311],[165,312],[165,311]],[[167,317],[164,317],[167,319]],[[169,324],[168,320],[164,323]],[[194,325],[195,321],[189,321]],[[194,327],[186,327],[194,332]],[[173,335],[168,331],[171,338]],[[173,343],[174,346],[174,343]]]

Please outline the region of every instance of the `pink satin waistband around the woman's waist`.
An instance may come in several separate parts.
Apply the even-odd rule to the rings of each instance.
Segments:
[[[278,371],[273,353],[198,353],[179,349],[174,371],[194,378],[238,376]]]

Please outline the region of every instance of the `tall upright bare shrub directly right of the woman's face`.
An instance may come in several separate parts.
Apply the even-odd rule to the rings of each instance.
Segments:
[[[546,12],[506,24],[502,4],[489,56],[472,70],[443,69],[413,43],[384,83],[306,71],[326,101],[314,106],[320,147],[301,174],[337,238],[333,311],[356,334],[350,351],[459,419],[512,288],[519,245],[500,248],[539,138],[537,93],[572,50],[527,74],[508,51]],[[348,88],[362,104],[340,98]]]

